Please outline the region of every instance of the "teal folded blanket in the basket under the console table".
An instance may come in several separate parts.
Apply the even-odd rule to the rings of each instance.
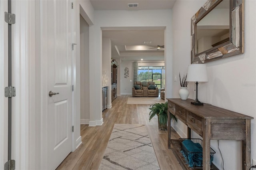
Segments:
[[[192,140],[183,140],[182,145],[186,150],[182,150],[183,156],[186,158],[190,167],[201,167],[203,162],[203,148],[199,143],[194,143]],[[212,162],[212,156],[211,161]]]

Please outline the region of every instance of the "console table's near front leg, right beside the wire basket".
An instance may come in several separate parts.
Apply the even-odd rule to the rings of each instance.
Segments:
[[[210,170],[210,119],[203,119],[203,170]]]

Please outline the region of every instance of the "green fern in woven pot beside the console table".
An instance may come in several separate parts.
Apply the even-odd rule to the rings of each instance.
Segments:
[[[159,130],[167,129],[167,119],[168,119],[168,102],[165,103],[155,103],[150,105],[149,121],[157,115],[158,117],[158,128]],[[177,118],[170,114],[171,119],[177,122]]]

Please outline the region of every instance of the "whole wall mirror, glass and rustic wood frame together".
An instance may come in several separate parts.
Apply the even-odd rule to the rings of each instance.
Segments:
[[[208,0],[191,18],[191,63],[243,53],[244,0]]]

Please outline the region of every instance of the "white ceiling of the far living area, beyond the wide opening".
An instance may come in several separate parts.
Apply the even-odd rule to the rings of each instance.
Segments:
[[[104,30],[102,31],[102,38],[111,39],[112,58],[164,60],[164,49],[149,49],[152,47],[146,46],[164,45],[164,30]],[[144,44],[144,41],[152,43]],[[128,49],[130,45],[135,46],[131,47],[133,50]]]

